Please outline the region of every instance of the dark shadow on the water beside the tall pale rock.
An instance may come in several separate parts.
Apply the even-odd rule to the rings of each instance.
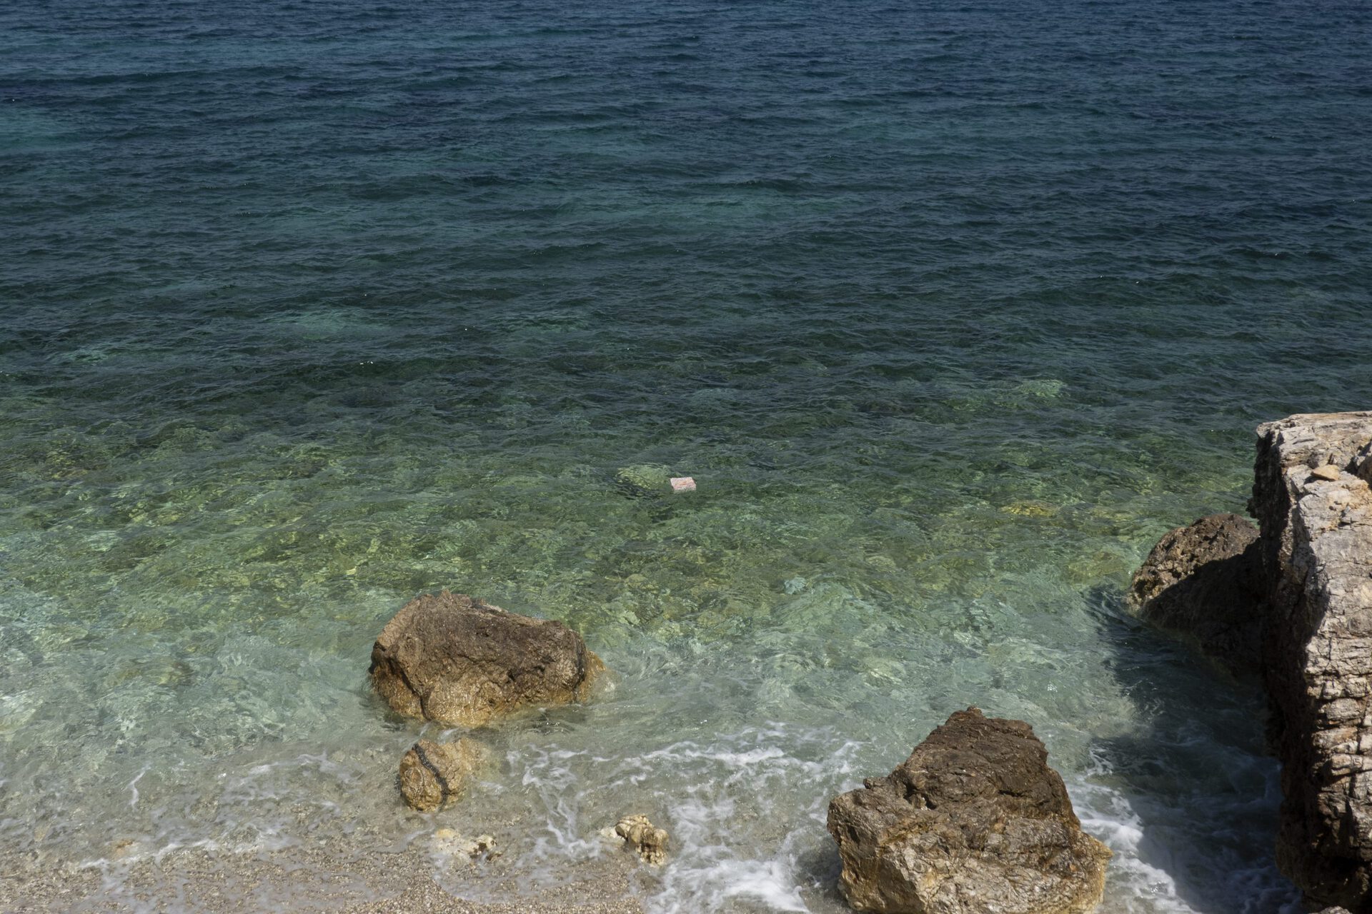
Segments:
[[[1131,848],[1117,854],[1109,878],[1200,914],[1302,911],[1299,891],[1276,866],[1280,766],[1264,743],[1258,678],[1235,678],[1140,622],[1115,588],[1096,588],[1087,602],[1140,721],[1093,745],[1083,806],[1095,808],[1077,808],[1084,824],[1096,819],[1095,830],[1113,829],[1098,837],[1114,850]]]

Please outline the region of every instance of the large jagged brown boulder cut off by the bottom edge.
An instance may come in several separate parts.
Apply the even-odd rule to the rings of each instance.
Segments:
[[[1110,851],[1081,830],[1022,721],[958,711],[888,777],[834,798],[841,888],[884,914],[1076,914],[1100,902]]]

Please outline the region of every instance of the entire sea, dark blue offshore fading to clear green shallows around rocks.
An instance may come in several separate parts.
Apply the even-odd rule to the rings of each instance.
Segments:
[[[447,586],[617,673],[450,814],[546,878],[627,806],[656,910],[838,910],[826,798],[974,703],[1048,743],[1104,910],[1291,903],[1258,696],[1120,596],[1242,510],[1257,422],[1372,402],[1369,45],[1233,0],[7,5],[0,840],[445,824],[365,669]]]

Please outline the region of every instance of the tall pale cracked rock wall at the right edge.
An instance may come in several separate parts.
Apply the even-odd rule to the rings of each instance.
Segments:
[[[1372,911],[1372,412],[1258,428],[1250,511],[1272,610],[1277,862],[1310,900]]]

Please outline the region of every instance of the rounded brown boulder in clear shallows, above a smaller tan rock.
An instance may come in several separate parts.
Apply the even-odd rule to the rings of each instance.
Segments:
[[[462,593],[410,600],[372,647],[372,682],[407,717],[480,726],[523,707],[582,700],[605,669],[561,622]]]

